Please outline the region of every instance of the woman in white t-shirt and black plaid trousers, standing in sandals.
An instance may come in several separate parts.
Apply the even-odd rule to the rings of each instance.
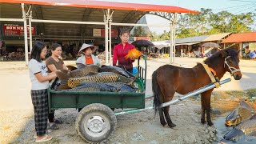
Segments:
[[[34,123],[37,133],[35,142],[50,141],[52,137],[46,134],[48,119],[48,93],[49,81],[56,78],[55,73],[48,73],[42,59],[46,57],[46,46],[43,42],[35,42],[30,55],[29,72],[31,98],[34,106]]]

